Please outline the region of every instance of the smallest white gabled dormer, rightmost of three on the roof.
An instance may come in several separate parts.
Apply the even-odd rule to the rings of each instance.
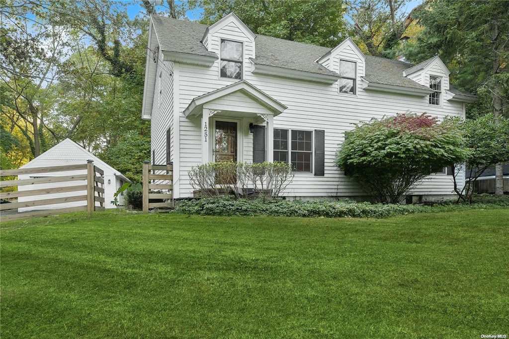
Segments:
[[[428,97],[431,106],[443,105],[446,91],[449,91],[449,74],[450,71],[438,55],[403,71],[403,76],[433,91]]]

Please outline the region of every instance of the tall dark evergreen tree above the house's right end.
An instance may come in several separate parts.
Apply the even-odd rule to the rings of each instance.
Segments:
[[[407,59],[434,54],[448,65],[451,78],[490,103],[495,119],[509,115],[509,2],[428,1],[415,13],[424,26],[404,46]],[[496,195],[503,194],[502,165],[496,165]]]

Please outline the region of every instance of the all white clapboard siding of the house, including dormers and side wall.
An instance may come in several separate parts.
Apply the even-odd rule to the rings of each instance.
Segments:
[[[335,153],[344,141],[344,132],[354,128],[354,123],[367,122],[375,117],[381,119],[385,116],[394,116],[397,113],[408,111],[421,114],[428,112],[440,119],[446,115],[464,117],[463,104],[443,102],[442,106],[431,106],[428,97],[415,97],[398,95],[393,93],[368,92],[361,89],[361,77],[364,75],[364,63],[352,47],[346,46],[338,54],[332,56],[330,69],[338,71],[340,59],[357,62],[357,95],[338,94],[337,83],[322,84],[305,80],[281,78],[264,74],[252,74],[248,58],[252,55],[253,46],[242,30],[231,22],[221,30],[210,35],[206,41],[209,50],[219,53],[219,41],[221,38],[242,41],[244,43],[244,75],[243,78],[267,95],[288,106],[288,109],[274,118],[274,128],[302,129],[302,130],[325,130],[325,176],[315,177],[313,173],[297,173],[293,183],[288,187],[286,194],[293,197],[327,197],[327,196],[358,196],[364,193],[349,178],[345,177],[334,165]],[[160,61],[162,62],[162,61]],[[166,63],[167,69],[163,70],[160,84],[161,100],[154,104],[152,111],[152,150],[156,153],[156,162],[165,161],[165,138],[166,129],[172,131],[172,158],[175,164],[174,176],[175,197],[192,196],[192,187],[187,176],[191,166],[200,164],[202,161],[202,136],[201,118],[187,119],[182,111],[189,105],[192,99],[223,88],[236,80],[219,77],[219,61],[212,67],[181,64],[175,65],[175,88],[174,79],[169,76],[168,69],[173,69],[173,63]],[[433,69],[433,71],[436,71]],[[159,69],[158,74],[159,76]],[[444,79],[447,78],[444,74]],[[422,78],[421,78],[422,79]],[[415,78],[417,80],[417,78]],[[419,82],[419,81],[417,81]],[[445,86],[448,88],[448,79]],[[429,85],[428,83],[425,86]],[[158,95],[158,88],[155,89]],[[175,102],[173,101],[175,98]],[[238,100],[235,100],[237,98]],[[229,103],[233,106],[249,106],[249,101],[243,101],[242,95],[233,95],[230,102],[217,100],[213,104],[224,105]],[[228,101],[228,100],[227,100]],[[156,100],[154,100],[156,102]],[[174,115],[173,107],[176,113]],[[219,106],[218,106],[219,108]],[[215,115],[214,118],[220,118]],[[178,123],[174,128],[172,122]],[[239,137],[242,138],[243,161],[252,161],[252,134],[249,133],[249,123],[261,124],[260,120],[242,118]],[[173,135],[180,135],[177,143],[178,149],[174,150]],[[460,178],[463,180],[463,178]],[[431,180],[425,180],[415,190],[414,194],[452,194],[453,184],[450,176],[434,175]]]

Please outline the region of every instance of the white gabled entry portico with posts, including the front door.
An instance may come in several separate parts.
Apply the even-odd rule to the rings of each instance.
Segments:
[[[187,119],[201,118],[202,163],[254,162],[245,158],[248,143],[245,127],[252,133],[264,125],[264,161],[273,161],[274,117],[287,107],[245,80],[194,98],[184,110]],[[249,135],[249,134],[247,134]]]

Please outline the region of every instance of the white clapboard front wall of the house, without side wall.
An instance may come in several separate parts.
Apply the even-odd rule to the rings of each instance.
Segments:
[[[353,59],[353,55],[349,55]],[[341,57],[338,56],[336,60]],[[359,62],[358,74],[363,74]],[[179,65],[179,111],[182,112],[197,96],[217,90],[231,83],[218,79],[216,67]],[[360,87],[357,95],[340,95],[337,84],[326,85],[304,80],[291,80],[269,75],[247,72],[245,79],[269,96],[288,106],[288,109],[274,118],[275,128],[285,129],[323,129],[325,130],[325,177],[298,173],[287,189],[289,196],[351,196],[363,195],[358,187],[345,177],[334,165],[338,144],[344,140],[344,132],[353,129],[353,123],[369,121],[372,117],[381,119],[397,113],[414,111],[428,112],[443,118],[446,115],[462,116],[461,103],[444,102],[444,107],[431,107],[428,97],[414,97],[390,93],[367,92]],[[178,196],[191,196],[192,189],[187,179],[191,166],[201,162],[200,119],[186,119],[179,114],[180,142],[180,192]],[[215,116],[216,117],[216,116]],[[217,117],[216,117],[217,118]],[[249,121],[246,119],[245,124]],[[252,159],[252,135],[244,133],[244,160]],[[251,154],[249,154],[251,153]],[[415,189],[415,194],[450,194],[453,186],[451,177],[433,176],[433,181],[425,181]]]

